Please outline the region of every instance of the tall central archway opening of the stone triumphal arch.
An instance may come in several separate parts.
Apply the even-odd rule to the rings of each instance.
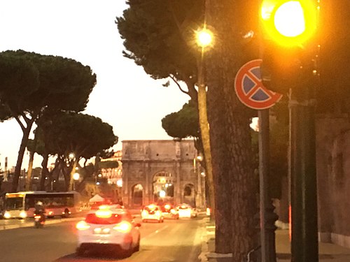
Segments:
[[[174,176],[167,171],[160,171],[153,175],[153,201],[158,204],[174,203]],[[162,196],[162,194],[165,196]]]

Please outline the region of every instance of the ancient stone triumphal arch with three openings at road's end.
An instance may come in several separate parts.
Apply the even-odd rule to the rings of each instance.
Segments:
[[[123,204],[189,203],[204,208],[204,172],[193,140],[124,140]]]

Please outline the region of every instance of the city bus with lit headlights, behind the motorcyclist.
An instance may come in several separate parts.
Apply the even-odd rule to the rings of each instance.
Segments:
[[[35,204],[41,201],[47,217],[69,217],[80,211],[80,194],[76,191],[23,191],[6,193],[3,218],[34,217]]]

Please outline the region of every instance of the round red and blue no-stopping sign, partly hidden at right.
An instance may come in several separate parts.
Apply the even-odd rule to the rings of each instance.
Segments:
[[[272,92],[262,85],[261,62],[261,59],[248,61],[239,69],[235,79],[235,91],[239,100],[253,109],[271,108],[282,97],[281,94]]]

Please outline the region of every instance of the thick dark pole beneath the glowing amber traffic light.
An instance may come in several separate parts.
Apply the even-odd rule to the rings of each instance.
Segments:
[[[318,262],[314,87],[306,88],[305,99],[289,101],[292,262]]]

